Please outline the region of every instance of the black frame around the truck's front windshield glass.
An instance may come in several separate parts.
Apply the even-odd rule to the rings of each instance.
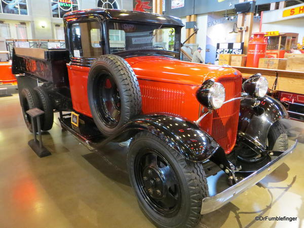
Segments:
[[[149,23],[149,22],[141,22],[141,21],[125,21],[125,20],[107,20],[105,22],[105,37],[106,37],[106,49],[108,51],[108,53],[110,53],[110,39],[109,39],[109,23],[128,23],[128,24],[144,24],[146,26],[149,25],[158,25],[158,27],[160,26],[165,26],[165,27],[172,27],[175,28],[176,31],[179,32],[179,51],[178,52],[174,52],[174,51],[167,51],[167,50],[157,50],[157,49],[142,49],[142,50],[128,50],[128,51],[121,51],[121,52],[115,52],[112,53],[113,55],[118,55],[121,56],[123,58],[127,58],[127,57],[134,57],[134,56],[166,56],[166,57],[173,57],[176,59],[180,59],[180,49],[181,49],[181,43],[180,43],[180,36],[181,36],[181,28],[182,26],[178,26],[178,25],[171,25],[171,24],[160,24],[160,23]]]

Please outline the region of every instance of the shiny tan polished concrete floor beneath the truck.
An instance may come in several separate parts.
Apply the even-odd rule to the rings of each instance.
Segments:
[[[304,227],[304,124],[286,123],[299,145],[285,164],[200,227]],[[0,227],[154,227],[141,213],[126,172],[126,147],[91,153],[58,121],[44,134],[52,155],[38,158],[27,142],[19,98],[0,98]],[[290,141],[290,144],[293,141]],[[214,177],[213,177],[214,180]],[[224,185],[220,175],[216,188]],[[256,221],[289,216],[296,221]]]

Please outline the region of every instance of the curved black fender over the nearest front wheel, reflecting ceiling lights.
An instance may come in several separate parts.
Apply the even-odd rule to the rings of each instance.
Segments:
[[[187,120],[167,115],[144,115],[127,123],[120,133],[110,136],[112,140],[128,132],[133,137],[140,131],[147,131],[166,142],[185,159],[204,162],[220,147],[218,143],[198,125]]]

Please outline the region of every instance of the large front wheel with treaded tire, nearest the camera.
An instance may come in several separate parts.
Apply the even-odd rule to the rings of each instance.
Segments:
[[[201,164],[185,160],[157,136],[141,132],[131,141],[128,171],[140,208],[158,227],[195,227],[209,196]]]

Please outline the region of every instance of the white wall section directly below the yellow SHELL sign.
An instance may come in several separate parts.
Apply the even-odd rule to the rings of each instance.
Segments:
[[[304,17],[262,24],[262,31],[279,31],[299,33],[298,43],[302,43],[304,37]]]

